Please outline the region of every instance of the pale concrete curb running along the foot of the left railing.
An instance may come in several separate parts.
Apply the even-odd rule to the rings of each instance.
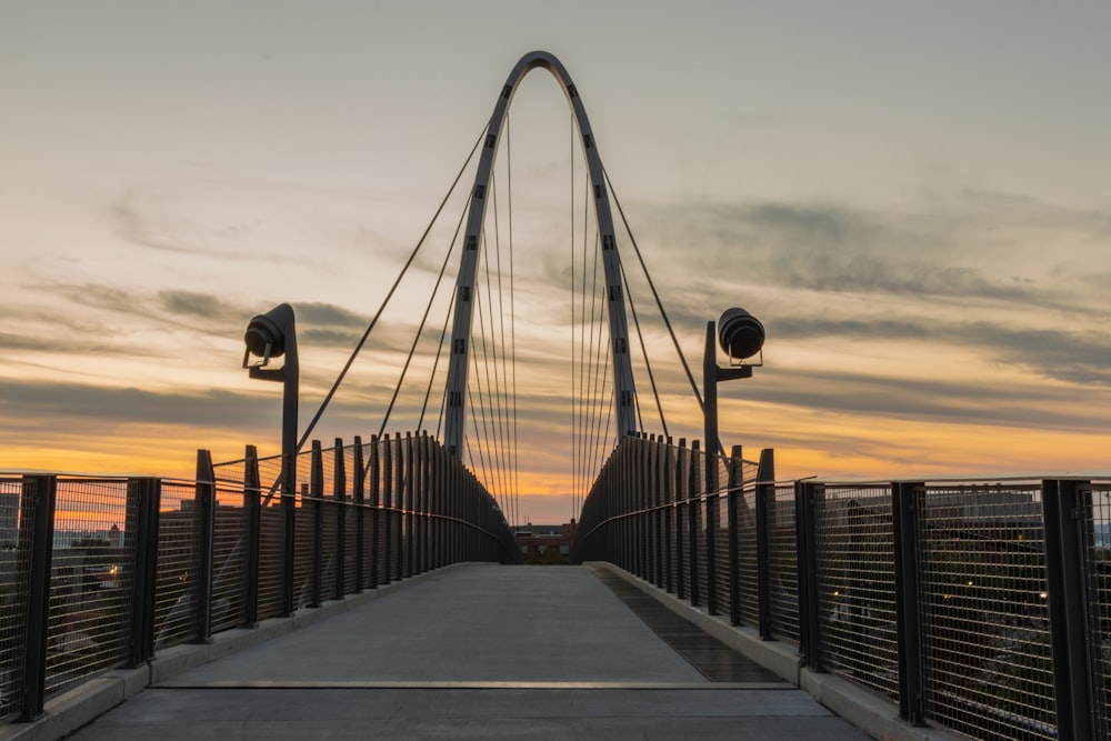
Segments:
[[[329,600],[319,608],[302,608],[291,618],[263,620],[254,628],[234,628],[212,638],[211,643],[179,643],[163,649],[150,663],[136,669],[114,669],[62,692],[46,702],[42,718],[30,723],[0,725],[0,741],[53,741],[91,723],[128,698],[151,684],[166,681],[221,657],[264,643],[294,630],[313,625],[371,600],[396,594],[421,579],[448,569],[473,563],[452,563],[434,571],[382,584],[340,600]]]

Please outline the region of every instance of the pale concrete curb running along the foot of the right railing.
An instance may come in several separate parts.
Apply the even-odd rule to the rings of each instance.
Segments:
[[[729,624],[727,618],[711,615],[705,611],[705,608],[691,607],[689,602],[677,599],[667,591],[619,569],[612,563],[592,561],[584,565],[607,569],[610,573],[621,577],[680,618],[782,677],[784,681],[805,691],[837,715],[874,739],[880,741],[959,741],[962,738],[943,729],[908,725],[899,719],[899,711],[894,703],[835,674],[819,673],[803,668],[793,647],[780,641],[763,641],[752,628],[734,628]]]

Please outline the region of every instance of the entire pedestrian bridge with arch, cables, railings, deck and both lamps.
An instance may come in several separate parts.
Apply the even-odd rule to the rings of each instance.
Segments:
[[[498,214],[512,178],[494,177],[536,69],[563,90],[584,163],[571,389],[546,391],[574,428],[575,565],[549,568],[514,565],[530,415],[510,402],[513,221],[503,283]],[[453,197],[454,231],[426,240]],[[390,401],[371,404],[378,433],[326,447],[317,423],[413,264],[442,267],[423,309],[397,308],[408,356],[373,338],[404,356]],[[634,292],[659,309],[701,447],[669,432],[648,357],[662,343],[645,341]],[[0,739],[90,722],[79,738],[1107,738],[1111,480],[778,480],[771,450],[747,460],[717,423],[718,382],[751,377],[763,339],[740,308],[708,322],[699,389],[577,87],[553,56],[526,54],[303,430],[294,310],[250,321],[244,369],[282,382],[281,455],[248,445],[213,464],[202,450],[188,481],[0,471]],[[548,445],[551,418],[531,417]],[[399,428],[416,432],[386,432]]]

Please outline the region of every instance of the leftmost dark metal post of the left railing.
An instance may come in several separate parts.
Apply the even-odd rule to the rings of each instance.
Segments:
[[[29,563],[27,642],[23,654],[21,721],[42,717],[47,693],[47,638],[50,621],[50,565],[54,542],[54,500],[58,478],[23,477],[19,518],[19,561]]]

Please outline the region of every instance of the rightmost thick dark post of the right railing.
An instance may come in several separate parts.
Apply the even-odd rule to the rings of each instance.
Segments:
[[[1108,732],[1104,713],[1100,712],[1102,703],[1097,698],[1104,688],[1094,681],[1100,677],[1094,664],[1100,655],[1099,624],[1089,623],[1094,564],[1084,543],[1094,540],[1091,499],[1089,481],[1042,481],[1045,581],[1060,739],[1107,738]]]

